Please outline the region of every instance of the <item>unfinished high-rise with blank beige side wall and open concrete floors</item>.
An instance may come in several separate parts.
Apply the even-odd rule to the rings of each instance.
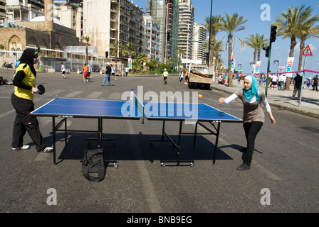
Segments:
[[[98,48],[98,55],[116,57],[110,45],[118,40],[122,45],[132,43],[136,55],[142,52],[143,12],[127,0],[83,0],[83,35],[90,37],[90,45]],[[111,55],[113,53],[113,55]],[[127,62],[127,55],[117,52]],[[134,56],[132,56],[134,57]]]

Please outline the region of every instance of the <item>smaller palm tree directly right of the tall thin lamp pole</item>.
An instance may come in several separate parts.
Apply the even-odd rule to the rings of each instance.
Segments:
[[[211,43],[209,44],[211,51],[210,51],[209,60],[212,60],[214,57],[214,49],[215,49],[214,45],[216,43],[215,38],[217,33],[221,31],[221,16],[220,15],[212,16],[211,18],[209,16],[206,16],[204,18],[204,21],[206,22],[206,24],[204,24],[204,27],[206,28],[207,32],[209,33],[209,31],[211,31],[210,33]],[[207,62],[207,63],[210,63],[210,62]]]

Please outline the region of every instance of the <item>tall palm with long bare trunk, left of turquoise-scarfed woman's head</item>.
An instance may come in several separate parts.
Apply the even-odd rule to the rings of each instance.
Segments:
[[[244,23],[248,21],[244,16],[238,16],[238,13],[234,13],[233,16],[229,16],[226,13],[226,18],[221,17],[221,31],[225,31],[227,33],[227,43],[228,43],[228,86],[233,87],[233,74],[231,74],[231,52],[233,50],[233,37],[236,32],[244,30]],[[244,42],[236,36],[241,42],[241,50],[245,48]],[[235,48],[235,45],[234,45]]]

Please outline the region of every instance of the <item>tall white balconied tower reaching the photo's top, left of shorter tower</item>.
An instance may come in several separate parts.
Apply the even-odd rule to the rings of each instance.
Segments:
[[[192,59],[194,49],[194,6],[190,0],[179,0],[178,48],[184,50],[183,58]]]

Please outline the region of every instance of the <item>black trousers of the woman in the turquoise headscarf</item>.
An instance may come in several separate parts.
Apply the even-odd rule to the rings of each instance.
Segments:
[[[258,132],[261,130],[263,123],[261,121],[253,121],[250,123],[243,123],[245,136],[247,140],[246,153],[244,154],[244,162],[251,164],[253,158],[253,150],[255,150],[255,139]]]

